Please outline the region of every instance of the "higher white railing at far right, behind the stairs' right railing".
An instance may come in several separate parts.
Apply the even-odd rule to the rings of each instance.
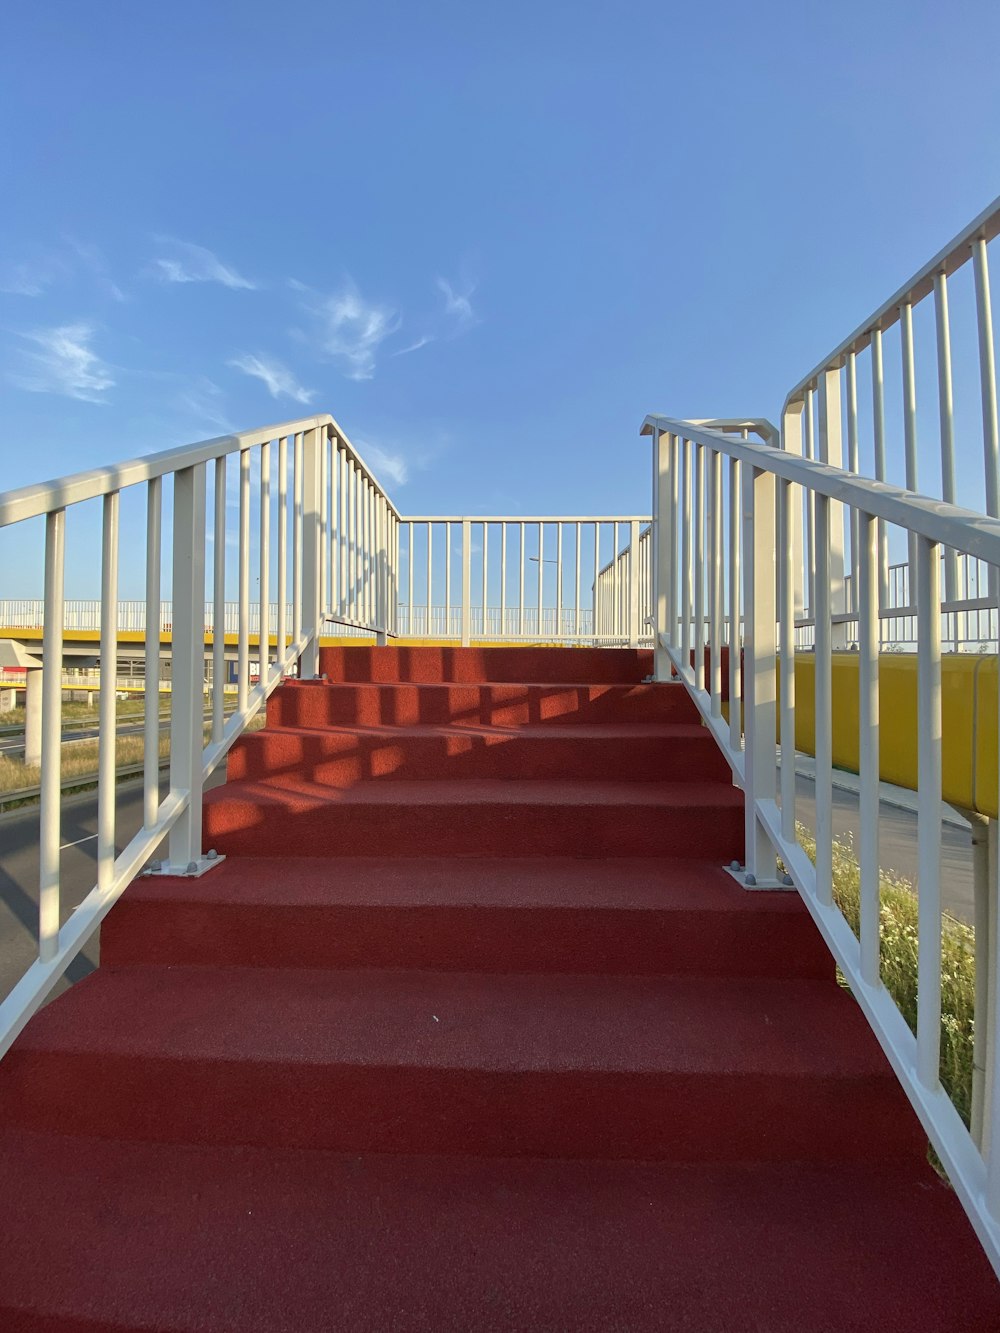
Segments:
[[[989,289],[989,249],[997,235],[1000,199],[795,385],[783,408],[783,448],[877,481],[895,480],[908,491],[923,489],[948,504],[956,503],[964,483],[971,507],[1000,516]],[[921,309],[925,304],[933,309]],[[897,347],[889,347],[889,339]],[[895,441],[899,448],[893,448]],[[928,483],[935,472],[937,476]],[[796,540],[804,541],[805,577],[796,593],[796,617],[808,621],[816,589],[808,507],[803,520],[803,535]],[[903,540],[901,533],[895,536],[915,581],[916,543]],[[877,537],[879,607],[884,611],[891,596],[893,535],[881,520]],[[965,600],[960,556],[948,549],[941,556],[945,601],[960,609],[956,604]],[[829,565],[837,616],[855,609],[851,589],[857,587],[860,567],[857,524],[852,519],[845,528],[839,503],[831,509]],[[835,641],[843,645],[845,635],[835,621]]]

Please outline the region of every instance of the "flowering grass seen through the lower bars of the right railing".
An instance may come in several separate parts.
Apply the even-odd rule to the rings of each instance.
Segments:
[[[816,841],[797,825],[799,842],[816,860]],[[916,1033],[917,897],[909,880],[879,872],[881,980]],[[857,936],[861,869],[851,838],[833,842],[833,898]],[[976,932],[941,914],[941,1084],[965,1125],[972,1112],[972,1045],[976,1018]]]

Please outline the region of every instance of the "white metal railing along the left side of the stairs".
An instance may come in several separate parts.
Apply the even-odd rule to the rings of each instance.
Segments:
[[[151,693],[159,693],[161,674],[161,584],[171,584],[169,786],[161,798],[160,718],[156,709],[147,709],[143,828],[116,852],[115,689],[101,690],[97,882],[60,925],[63,588],[67,529],[88,501],[101,507],[96,628],[103,663],[117,657],[123,504],[136,504],[144,517],[143,684]],[[285,673],[317,673],[324,621],[367,631],[384,643],[396,620],[399,512],[329,416],[221,436],[0,495],[0,529],[33,519],[44,521],[37,956],[0,1004],[0,1054],[164,838],[165,872],[200,873],[211,864],[201,846],[204,778]],[[229,543],[239,589],[235,613],[225,604]],[[259,585],[255,599],[252,569]],[[212,591],[208,607],[207,584]],[[255,682],[251,633],[265,617],[273,624],[273,645],[255,649]],[[225,641],[223,635],[213,639],[208,734],[207,623],[232,627],[237,657],[236,710],[229,713]]]

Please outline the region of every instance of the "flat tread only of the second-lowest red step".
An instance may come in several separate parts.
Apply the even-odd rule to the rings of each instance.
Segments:
[[[860,1009],[836,985],[771,978],[101,968],[41,1010],[13,1050],[892,1077]]]

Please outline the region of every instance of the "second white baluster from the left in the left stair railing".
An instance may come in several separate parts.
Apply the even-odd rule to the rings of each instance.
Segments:
[[[97,741],[97,888],[115,873],[115,769],[119,657],[119,492],[104,496],[101,541],[101,696]],[[201,592],[204,605],[204,589]]]

